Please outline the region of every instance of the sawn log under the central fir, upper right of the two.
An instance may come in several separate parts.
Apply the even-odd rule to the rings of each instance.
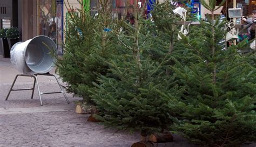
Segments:
[[[173,142],[173,136],[170,134],[170,132],[154,133],[149,136],[149,142]]]

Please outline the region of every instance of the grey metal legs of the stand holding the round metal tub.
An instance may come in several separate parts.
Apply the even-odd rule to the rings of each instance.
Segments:
[[[56,81],[57,81],[57,83],[58,83],[58,85],[59,85],[59,88],[60,88],[61,91],[60,91],[60,92],[50,92],[50,93],[42,93],[42,92],[40,92],[39,83],[38,83],[38,80],[37,80],[37,75],[54,76],[55,79],[56,79]],[[12,88],[14,87],[14,84],[15,84],[15,82],[16,82],[18,76],[29,76],[29,77],[31,77],[31,78],[33,77],[33,78],[34,78],[33,88],[27,88],[27,89],[12,89]],[[9,97],[11,91],[20,91],[20,90],[32,90],[31,99],[33,99],[33,94],[34,94],[34,91],[35,91],[35,85],[36,85],[36,83],[37,83],[37,89],[38,89],[38,94],[39,94],[41,106],[43,106],[42,98],[41,98],[41,95],[42,95],[42,94],[63,93],[63,95],[65,96],[66,102],[69,103],[68,97],[66,96],[64,90],[62,89],[62,86],[60,85],[60,83],[59,83],[57,77],[56,77],[54,74],[50,74],[50,73],[46,73],[46,74],[17,74],[16,77],[15,77],[15,79],[14,79],[14,82],[13,82],[12,85],[11,85],[11,88],[10,88],[10,90],[9,90],[9,93],[8,93],[8,95],[6,96],[5,101],[8,99],[8,97]]]

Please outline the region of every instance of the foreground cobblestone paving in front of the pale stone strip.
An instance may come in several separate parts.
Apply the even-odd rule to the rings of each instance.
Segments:
[[[0,115],[0,143],[8,146],[130,146],[138,136],[87,122],[73,111]],[[4,120],[4,121],[3,121]]]

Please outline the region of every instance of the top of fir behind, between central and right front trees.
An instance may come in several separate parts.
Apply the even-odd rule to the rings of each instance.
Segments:
[[[180,21],[181,18],[174,15],[173,9],[175,9],[175,7],[170,2],[154,6],[152,17],[155,27],[153,28],[153,31],[154,34],[156,34],[156,38],[158,38],[158,43],[154,44],[154,47],[151,48],[149,53],[155,60],[162,60],[167,53],[169,54],[169,57],[175,57],[181,63],[194,62],[197,60],[195,59],[196,57],[191,54],[190,50],[184,50],[184,44],[181,44],[184,40],[178,40],[177,36],[181,25],[177,25],[177,21]],[[187,20],[192,18],[193,15],[188,13]],[[203,29],[201,30],[203,32]],[[174,60],[170,60],[166,65],[169,66],[174,64]],[[171,74],[171,71],[167,70],[166,74]]]

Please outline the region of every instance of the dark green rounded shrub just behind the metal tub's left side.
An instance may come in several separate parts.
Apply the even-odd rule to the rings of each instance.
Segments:
[[[10,27],[6,31],[6,38],[8,40],[9,48],[11,50],[11,47],[19,41],[19,30],[17,29],[17,27]]]

